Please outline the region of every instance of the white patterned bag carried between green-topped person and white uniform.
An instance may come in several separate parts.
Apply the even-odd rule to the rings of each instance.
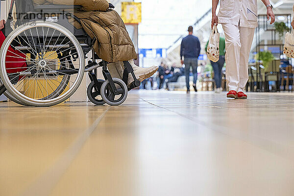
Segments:
[[[212,28],[206,54],[207,58],[213,62],[217,62],[220,59],[220,33],[217,25],[214,25]]]

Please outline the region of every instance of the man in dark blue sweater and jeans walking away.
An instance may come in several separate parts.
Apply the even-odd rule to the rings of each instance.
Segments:
[[[188,28],[189,35],[184,37],[181,43],[181,63],[185,64],[185,75],[187,84],[187,93],[190,93],[190,67],[192,67],[194,80],[193,87],[197,92],[196,82],[197,82],[197,66],[198,66],[198,56],[200,54],[200,42],[199,39],[193,35],[193,26]],[[184,56],[184,60],[183,60]]]

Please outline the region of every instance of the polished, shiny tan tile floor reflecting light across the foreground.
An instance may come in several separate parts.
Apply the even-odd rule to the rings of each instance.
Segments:
[[[294,196],[294,94],[0,103],[0,196]]]

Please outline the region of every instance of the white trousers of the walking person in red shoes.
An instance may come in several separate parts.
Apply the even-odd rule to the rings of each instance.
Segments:
[[[249,53],[255,28],[221,24],[225,34],[226,81],[229,91],[244,92],[248,81]]]

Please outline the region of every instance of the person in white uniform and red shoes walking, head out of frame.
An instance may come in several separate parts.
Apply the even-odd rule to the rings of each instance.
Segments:
[[[269,0],[262,0],[267,6],[270,24],[275,21]],[[257,0],[212,0],[213,25],[222,25],[225,34],[226,81],[228,98],[247,98],[244,93],[248,81],[248,60],[255,27],[257,27]]]

